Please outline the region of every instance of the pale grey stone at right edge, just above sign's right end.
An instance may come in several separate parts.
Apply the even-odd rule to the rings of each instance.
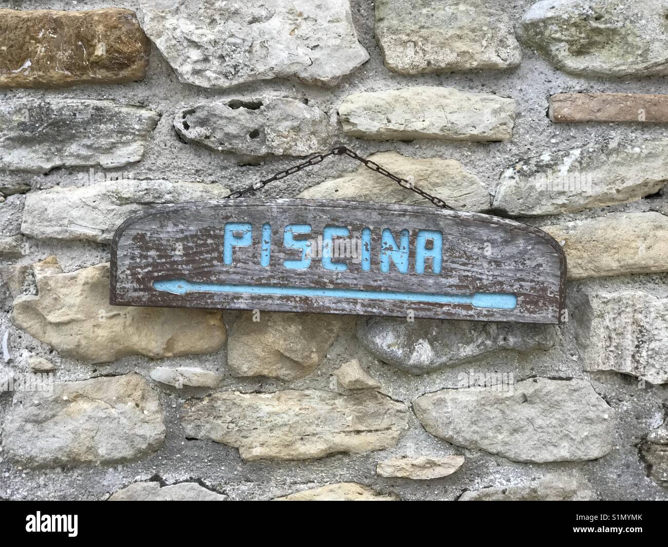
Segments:
[[[639,200],[668,180],[668,140],[545,152],[506,169],[492,207],[514,216],[578,212]]]

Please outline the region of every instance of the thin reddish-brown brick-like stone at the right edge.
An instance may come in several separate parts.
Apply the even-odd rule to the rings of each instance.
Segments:
[[[563,122],[668,123],[668,95],[558,93],[550,97],[550,120]]]

